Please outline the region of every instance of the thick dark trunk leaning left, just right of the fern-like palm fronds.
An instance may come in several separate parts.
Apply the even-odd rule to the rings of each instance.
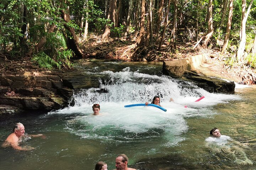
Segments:
[[[70,22],[69,13],[64,11],[64,10],[61,10],[61,14],[62,14],[62,18],[64,19],[64,21],[66,23],[69,23]],[[75,57],[74,58],[82,58],[83,53],[82,53],[82,51],[79,48],[78,38],[77,38],[77,36],[75,34],[75,29],[69,27],[68,24],[66,24],[66,23],[64,23],[64,27],[65,27],[66,30],[68,30],[68,34],[70,34],[70,36],[72,37],[72,38],[68,39],[68,44],[70,45],[70,49],[72,51],[74,51],[74,53],[75,53]]]

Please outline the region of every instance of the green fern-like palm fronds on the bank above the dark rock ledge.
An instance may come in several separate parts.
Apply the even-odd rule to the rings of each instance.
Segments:
[[[73,67],[70,58],[74,52],[67,49],[66,40],[62,33],[50,33],[46,36],[47,43],[44,50],[32,56],[32,61],[38,63],[40,67],[47,69],[64,69]]]

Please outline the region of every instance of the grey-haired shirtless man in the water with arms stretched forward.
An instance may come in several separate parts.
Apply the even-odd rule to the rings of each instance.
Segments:
[[[5,142],[3,143],[3,147],[8,147],[11,146],[14,149],[17,150],[22,150],[22,151],[29,151],[31,149],[34,149],[32,147],[28,147],[28,148],[22,148],[19,145],[19,143],[21,142],[21,138],[25,135],[25,127],[22,123],[17,123],[14,128],[12,129],[13,133],[11,135],[9,135],[7,137],[7,139],[5,140]],[[32,137],[38,137],[38,136],[42,136],[42,134],[38,134],[38,135],[29,135]]]

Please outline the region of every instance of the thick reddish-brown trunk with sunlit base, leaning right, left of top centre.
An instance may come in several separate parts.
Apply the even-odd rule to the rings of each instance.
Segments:
[[[109,10],[108,10],[108,19],[110,19],[112,23],[114,23],[112,25],[112,27],[115,26],[115,22],[116,22],[116,19],[115,19],[115,16],[116,16],[116,2],[117,0],[110,0],[110,7],[109,7]],[[111,32],[110,32],[110,29],[111,27],[108,26],[108,24],[106,24],[106,27],[105,27],[105,32],[102,34],[102,39],[108,39],[108,37],[110,36]]]

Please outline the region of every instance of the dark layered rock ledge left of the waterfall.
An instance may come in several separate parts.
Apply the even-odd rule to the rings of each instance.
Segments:
[[[15,75],[18,74],[18,75]],[[97,75],[77,72],[9,73],[0,75],[0,114],[52,110],[68,105],[74,89],[98,87]]]

